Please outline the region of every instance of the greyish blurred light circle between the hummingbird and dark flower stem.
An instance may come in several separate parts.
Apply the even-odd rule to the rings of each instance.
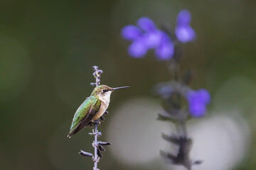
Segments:
[[[158,102],[146,98],[127,101],[114,111],[107,129],[114,157],[128,166],[150,166],[159,159],[159,149],[167,143],[161,132],[169,130],[166,123],[156,120],[161,111]]]

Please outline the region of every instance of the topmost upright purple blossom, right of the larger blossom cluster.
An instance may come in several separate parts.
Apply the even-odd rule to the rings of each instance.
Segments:
[[[196,32],[189,26],[191,13],[188,10],[181,10],[177,16],[177,26],[175,28],[176,38],[180,42],[189,42],[196,38]]]

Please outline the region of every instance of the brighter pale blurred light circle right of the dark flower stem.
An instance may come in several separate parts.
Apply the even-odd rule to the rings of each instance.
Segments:
[[[245,157],[250,144],[250,130],[240,113],[214,113],[188,125],[193,138],[192,160],[202,160],[193,170],[231,170]],[[181,170],[182,166],[171,166]],[[167,169],[170,168],[167,166]]]

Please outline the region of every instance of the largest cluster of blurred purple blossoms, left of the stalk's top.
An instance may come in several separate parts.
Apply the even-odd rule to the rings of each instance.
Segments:
[[[121,34],[124,39],[132,41],[128,49],[132,57],[144,57],[151,49],[155,50],[159,60],[170,60],[174,55],[174,45],[169,35],[157,29],[150,18],[139,18],[137,26],[125,26]]]

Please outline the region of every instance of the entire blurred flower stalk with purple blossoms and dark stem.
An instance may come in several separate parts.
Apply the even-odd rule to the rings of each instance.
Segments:
[[[188,137],[186,123],[191,118],[201,118],[206,115],[206,106],[210,103],[210,94],[206,89],[197,91],[188,86],[192,79],[191,70],[179,75],[182,59],[181,44],[196,39],[196,32],[190,26],[191,13],[181,10],[178,13],[174,31],[164,27],[159,30],[154,22],[147,17],[139,18],[137,26],[128,25],[122,28],[121,34],[125,40],[132,41],[128,54],[134,58],[144,57],[148,50],[154,50],[157,60],[165,60],[173,80],[156,84],[156,94],[162,98],[164,111],[159,113],[158,120],[169,120],[176,125],[176,135],[165,135],[164,140],[178,146],[178,154],[161,151],[167,162],[185,166],[191,170],[194,164],[189,157],[192,145]]]

